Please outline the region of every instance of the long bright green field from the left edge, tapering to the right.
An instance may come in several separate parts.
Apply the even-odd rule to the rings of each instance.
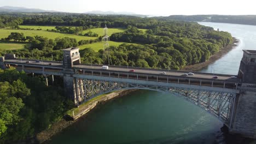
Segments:
[[[85,37],[74,34],[64,34],[64,33],[56,33],[56,32],[47,32],[47,31],[34,31],[34,30],[20,30],[20,29],[0,29],[0,39],[7,38],[11,32],[24,33],[25,36],[42,36],[49,39],[55,39],[58,37],[69,37],[75,38],[77,41],[79,40],[89,40],[89,39],[97,39],[96,37]]]

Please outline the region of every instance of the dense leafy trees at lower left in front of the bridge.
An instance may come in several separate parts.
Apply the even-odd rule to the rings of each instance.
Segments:
[[[46,87],[40,79],[0,70],[0,143],[30,139],[71,109],[61,86]]]

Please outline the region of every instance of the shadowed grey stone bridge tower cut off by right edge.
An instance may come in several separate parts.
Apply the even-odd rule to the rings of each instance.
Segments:
[[[230,132],[256,139],[256,51],[243,50],[238,77],[242,86]]]

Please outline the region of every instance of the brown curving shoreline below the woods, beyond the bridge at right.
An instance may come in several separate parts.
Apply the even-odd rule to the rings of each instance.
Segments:
[[[199,71],[202,70],[203,68],[207,67],[208,65],[216,62],[219,58],[222,58],[222,56],[224,56],[226,53],[228,53],[229,51],[231,51],[232,49],[234,49],[239,43],[239,39],[236,39],[233,37],[233,43],[222,47],[217,53],[215,53],[214,55],[212,55],[208,61],[203,62],[203,63],[197,63],[197,64],[193,64],[193,65],[186,65],[184,68],[182,68],[181,70],[185,70],[185,71]]]

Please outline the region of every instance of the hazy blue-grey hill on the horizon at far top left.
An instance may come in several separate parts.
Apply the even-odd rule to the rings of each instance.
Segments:
[[[58,11],[4,6],[4,7],[0,7],[0,12],[6,12],[6,13],[46,13],[46,12],[56,13]]]

